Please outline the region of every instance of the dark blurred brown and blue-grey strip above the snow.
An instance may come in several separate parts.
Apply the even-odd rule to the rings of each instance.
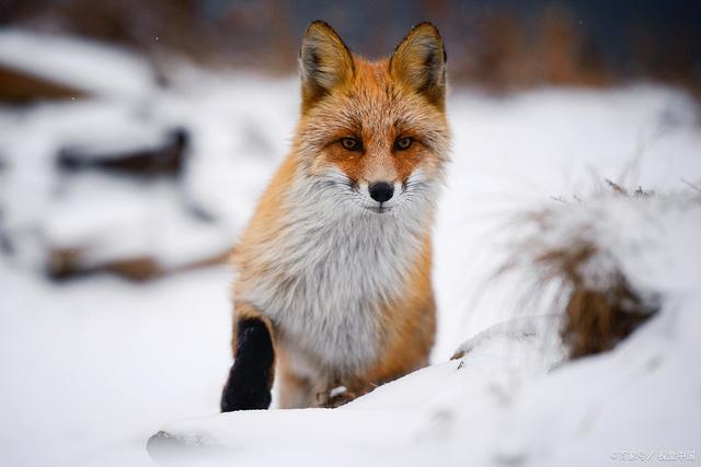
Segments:
[[[693,0],[301,1],[4,0],[0,24],[64,32],[207,67],[295,70],[297,43],[325,19],[353,49],[380,57],[407,25],[432,21],[451,80],[494,91],[543,84],[676,83],[699,92],[701,7]],[[168,77],[162,77],[168,79]]]

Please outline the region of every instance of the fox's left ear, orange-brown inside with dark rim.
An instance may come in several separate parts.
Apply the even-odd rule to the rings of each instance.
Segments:
[[[323,21],[307,27],[299,52],[302,107],[309,108],[333,87],[353,78],[353,56],[338,34]]]

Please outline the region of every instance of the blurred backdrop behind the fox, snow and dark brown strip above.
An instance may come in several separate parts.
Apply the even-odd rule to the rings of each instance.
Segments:
[[[593,179],[701,183],[698,1],[0,0],[4,465],[150,465],[163,422],[217,411],[222,264],[318,19],[371,58],[421,21],[445,37],[436,360],[504,318],[482,292],[507,213]]]

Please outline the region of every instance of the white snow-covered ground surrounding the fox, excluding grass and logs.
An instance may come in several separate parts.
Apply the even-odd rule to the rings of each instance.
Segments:
[[[172,420],[186,420],[166,430],[194,447],[154,447],[165,463],[175,452],[175,460],[257,465],[606,465],[614,455],[671,451],[696,452],[699,462],[701,255],[689,240],[701,232],[698,215],[677,244],[689,247],[681,253],[691,266],[660,261],[663,279],[683,284],[669,302],[674,313],[616,352],[548,373],[561,354],[550,345],[552,318],[540,317],[497,327],[473,341],[462,364],[448,361],[495,323],[543,314],[517,308],[515,278],[490,280],[518,234],[507,226],[514,212],[590,192],[605,177],[658,192],[701,183],[698,110],[682,93],[651,86],[510,97],[453,89],[453,163],[435,235],[436,365],[336,411],[188,421],[217,412],[230,364],[229,271],[57,284],[37,258],[48,241],[134,219],[143,229],[124,242],[107,236],[105,247],[156,249],[177,262],[233,243],[284,155],[297,103],[294,79],[192,71],[169,91],[0,109],[0,234],[14,242],[14,253],[0,256],[2,465],[153,465],[146,442]],[[64,187],[51,171],[65,141],[146,143],[171,125],[194,135],[176,187],[90,177]],[[199,232],[182,221],[183,198],[219,222]]]

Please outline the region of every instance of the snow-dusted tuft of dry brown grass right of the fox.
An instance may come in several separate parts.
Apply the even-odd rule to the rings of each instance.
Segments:
[[[656,196],[642,188],[631,194],[613,182],[606,182],[604,196],[629,198],[631,202],[646,202],[645,199]],[[575,199],[572,203],[527,213],[519,222],[528,225],[531,233],[516,245],[510,260],[499,270],[499,273],[521,268],[536,271],[526,300],[532,300],[530,294],[538,295],[548,283],[558,284],[553,307],[562,307],[561,338],[571,359],[612,349],[655,315],[659,303],[654,294],[643,294],[631,285],[607,245],[591,234],[590,224],[605,221],[591,215],[578,218],[578,211],[584,211],[587,202]],[[563,231],[563,238],[552,242],[549,235],[562,229],[563,220],[571,224]]]

